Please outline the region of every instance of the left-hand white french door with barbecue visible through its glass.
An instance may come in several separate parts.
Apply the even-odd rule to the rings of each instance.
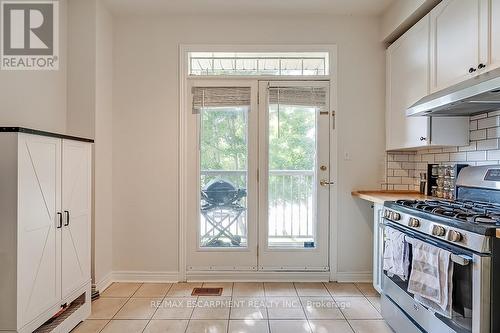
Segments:
[[[189,91],[187,270],[256,270],[258,83],[190,80]]]

